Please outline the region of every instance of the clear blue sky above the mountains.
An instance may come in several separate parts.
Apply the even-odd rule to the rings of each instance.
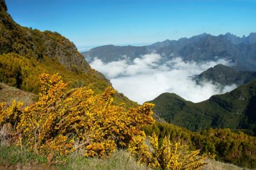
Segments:
[[[57,31],[79,50],[201,33],[256,32],[255,0],[6,0],[6,4],[20,25]]]

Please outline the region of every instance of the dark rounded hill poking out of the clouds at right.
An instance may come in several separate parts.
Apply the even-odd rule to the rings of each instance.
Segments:
[[[223,86],[237,84],[241,85],[256,78],[256,72],[238,72],[234,68],[225,65],[216,65],[205,72],[196,75],[195,80],[200,82],[211,81],[214,84],[220,83]]]

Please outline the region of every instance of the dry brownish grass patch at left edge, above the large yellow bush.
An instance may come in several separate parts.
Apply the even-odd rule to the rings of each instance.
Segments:
[[[35,102],[36,98],[37,95],[33,93],[28,93],[0,82],[0,102],[6,102],[10,105],[15,99],[16,101],[23,102],[24,106],[27,106]]]

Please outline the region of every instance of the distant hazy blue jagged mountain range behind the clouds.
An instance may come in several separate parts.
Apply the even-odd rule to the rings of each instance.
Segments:
[[[256,71],[256,33],[250,33],[242,38],[227,33],[212,36],[207,33],[180,38],[179,40],[165,40],[141,47],[104,45],[83,52],[86,61],[94,58],[104,63],[118,61],[122,58],[140,58],[149,53],[161,54],[163,62],[181,57],[184,61],[214,61],[228,59],[239,71]]]

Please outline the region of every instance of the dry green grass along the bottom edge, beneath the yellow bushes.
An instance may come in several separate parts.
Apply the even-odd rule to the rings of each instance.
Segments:
[[[148,169],[136,162],[130,153],[125,150],[117,150],[111,157],[105,159],[85,158],[83,154],[76,152],[65,158],[62,164],[47,164],[47,159],[33,152],[21,150],[18,146],[0,146],[0,169],[81,169],[81,170],[143,170]],[[233,164],[207,160],[201,170],[248,170]]]

